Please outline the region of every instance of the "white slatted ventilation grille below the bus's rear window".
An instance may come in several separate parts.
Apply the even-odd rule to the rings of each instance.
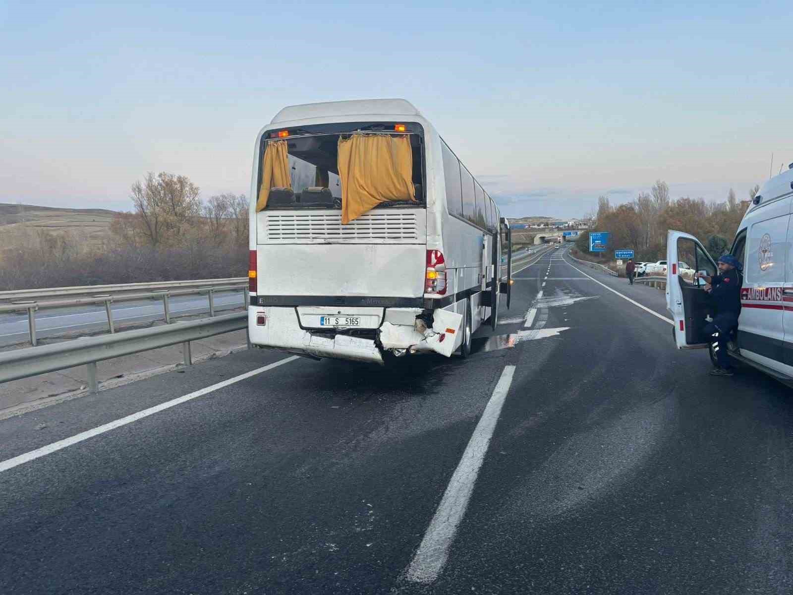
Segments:
[[[419,239],[416,213],[370,213],[342,225],[341,213],[267,213],[270,242]]]

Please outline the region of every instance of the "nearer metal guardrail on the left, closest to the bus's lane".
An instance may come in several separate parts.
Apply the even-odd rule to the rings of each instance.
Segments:
[[[97,362],[181,343],[185,365],[190,366],[193,363],[190,341],[243,329],[247,330],[247,312],[6,351],[0,353],[0,382],[86,365],[88,386],[96,393]],[[247,344],[251,347],[250,340]]]

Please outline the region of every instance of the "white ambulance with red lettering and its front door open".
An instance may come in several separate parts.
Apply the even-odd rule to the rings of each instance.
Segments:
[[[793,386],[793,163],[765,182],[738,226],[730,254],[743,264],[741,315],[729,353]],[[666,259],[683,260],[695,271],[715,274],[716,263],[694,236],[668,232]],[[666,307],[674,318],[678,349],[710,348],[703,329],[712,315],[704,282],[681,274],[672,264],[666,273]]]

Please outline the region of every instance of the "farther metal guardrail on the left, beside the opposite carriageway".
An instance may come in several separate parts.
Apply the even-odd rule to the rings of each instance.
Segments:
[[[48,300],[48,301],[16,301],[10,304],[2,304],[0,303],[0,313],[3,312],[27,312],[28,313],[28,335],[30,344],[33,347],[38,345],[38,338],[36,337],[36,312],[40,309],[48,309],[48,308],[65,308],[74,305],[105,305],[105,314],[107,316],[107,325],[108,330],[111,335],[115,334],[116,332],[116,325],[113,321],[113,309],[111,308],[111,304],[115,301],[116,303],[121,301],[133,301],[133,300],[140,300],[140,299],[157,299],[163,301],[163,313],[165,315],[165,322],[166,324],[170,324],[170,298],[174,296],[180,295],[196,295],[196,294],[206,294],[207,298],[209,298],[209,317],[215,316],[215,292],[216,291],[243,291],[243,307],[247,309],[248,304],[250,303],[250,298],[248,294],[248,285],[247,285],[247,278],[233,278],[232,281],[239,282],[236,285],[229,285],[228,279],[209,279],[209,282],[212,283],[209,286],[202,285],[206,283],[207,280],[202,281],[178,281],[174,282],[176,285],[170,286],[168,284],[156,284],[156,283],[129,283],[127,285],[116,285],[116,286],[86,286],[86,287],[60,287],[54,288],[52,291],[58,290],[94,290],[97,287],[113,287],[116,288],[117,294],[102,294],[102,292],[96,293],[94,291],[88,292],[91,297],[83,297],[83,298],[67,298],[67,299],[59,299],[59,300]],[[221,284],[220,281],[225,282]],[[244,281],[244,283],[243,283]],[[126,293],[132,289],[140,290],[140,286],[155,286],[155,287],[173,287],[173,289],[160,289],[160,290],[150,290],[148,293],[136,293],[136,294],[129,294]],[[50,291],[50,290],[29,290],[30,292],[35,291]],[[13,293],[13,292],[0,292],[0,293]],[[31,294],[33,295],[33,294]],[[78,294],[74,294],[78,295]]]

